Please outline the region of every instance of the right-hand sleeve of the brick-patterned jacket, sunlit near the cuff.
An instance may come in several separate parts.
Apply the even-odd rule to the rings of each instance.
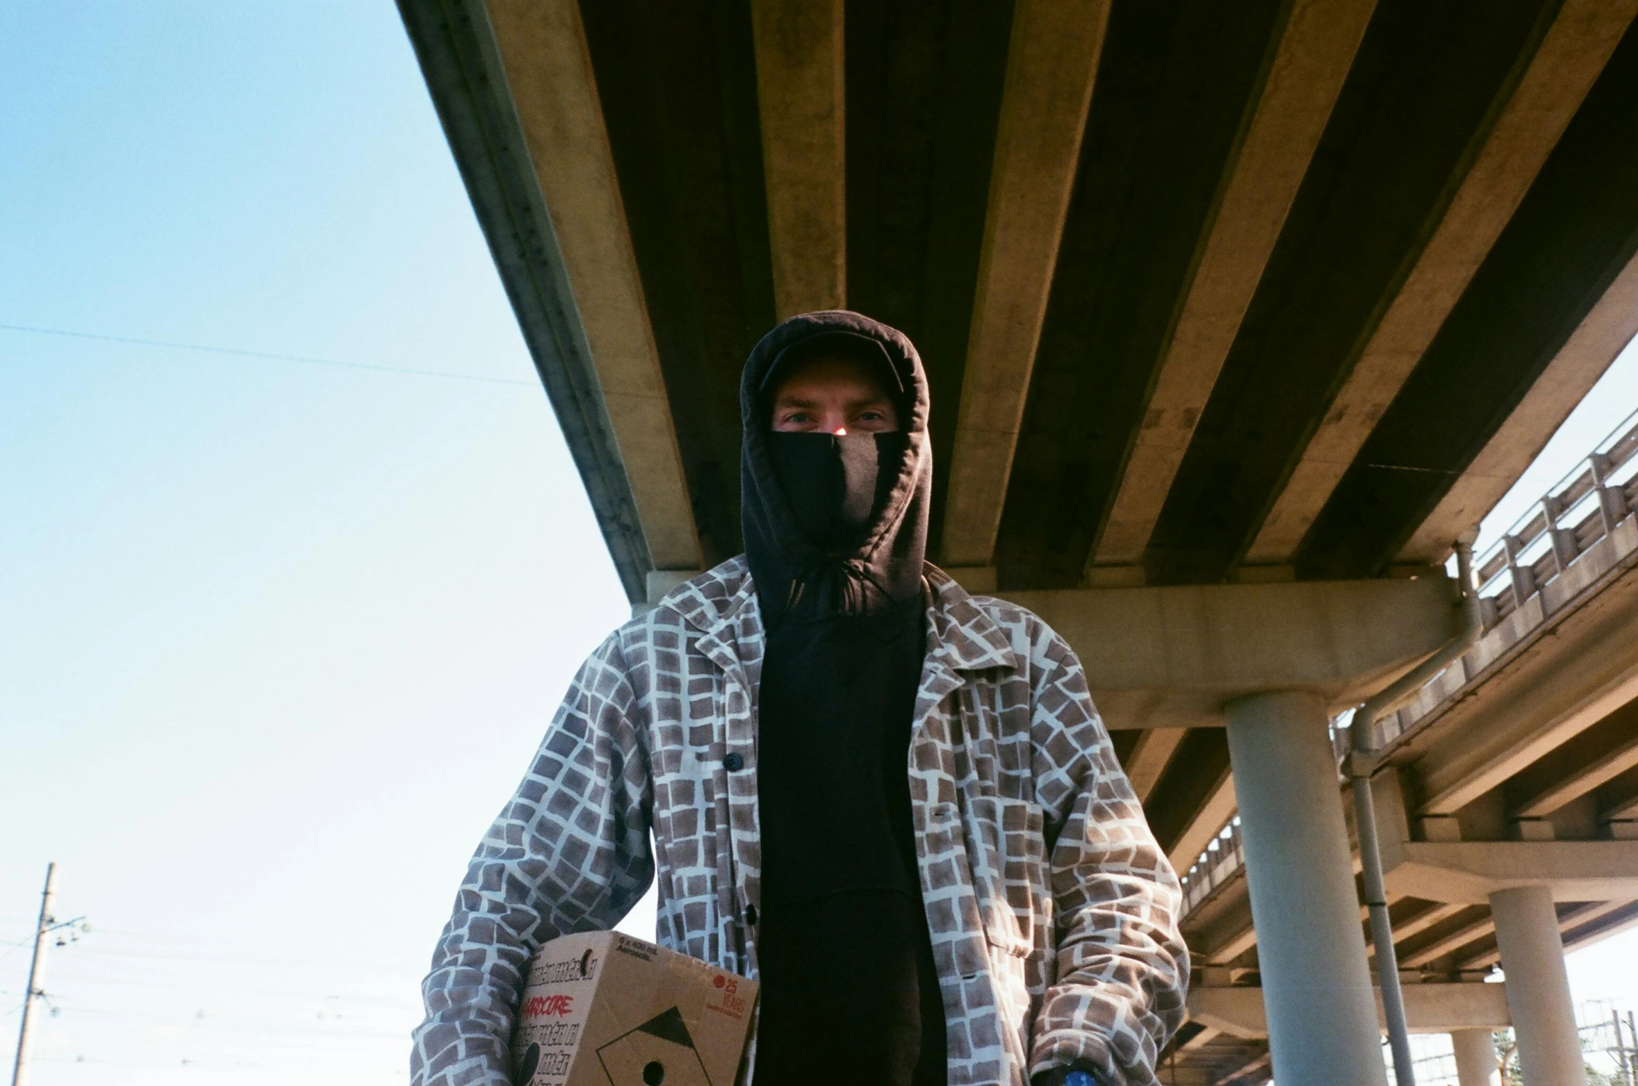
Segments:
[[[1093,708],[1075,652],[1042,629],[1034,652],[1035,796],[1043,808],[1057,978],[1035,1019],[1030,1071],[1096,1068],[1150,1086],[1183,1024],[1183,893]]]

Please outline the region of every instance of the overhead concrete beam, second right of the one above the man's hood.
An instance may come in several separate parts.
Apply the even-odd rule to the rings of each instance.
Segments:
[[[1225,172],[1093,565],[1142,560],[1374,8],[1376,0],[1291,5]]]

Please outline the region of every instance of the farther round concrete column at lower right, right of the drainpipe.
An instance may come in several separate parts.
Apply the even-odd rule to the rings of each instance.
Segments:
[[[1497,889],[1491,894],[1491,916],[1507,973],[1507,1012],[1518,1038],[1525,1086],[1586,1086],[1553,891],[1546,886]]]

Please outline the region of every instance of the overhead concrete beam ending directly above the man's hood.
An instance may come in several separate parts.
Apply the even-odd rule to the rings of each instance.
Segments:
[[[752,0],[773,305],[780,319],[847,303],[842,0]]]

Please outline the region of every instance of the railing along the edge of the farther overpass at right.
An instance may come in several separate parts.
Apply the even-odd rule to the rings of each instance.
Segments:
[[[1541,627],[1594,595],[1604,575],[1638,554],[1638,411],[1548,490],[1477,562],[1484,634],[1396,713],[1376,721],[1371,747],[1384,750],[1430,724],[1463,688]],[[1332,747],[1346,757],[1353,711],[1332,721]],[[1183,873],[1188,914],[1245,865],[1240,817]]]

